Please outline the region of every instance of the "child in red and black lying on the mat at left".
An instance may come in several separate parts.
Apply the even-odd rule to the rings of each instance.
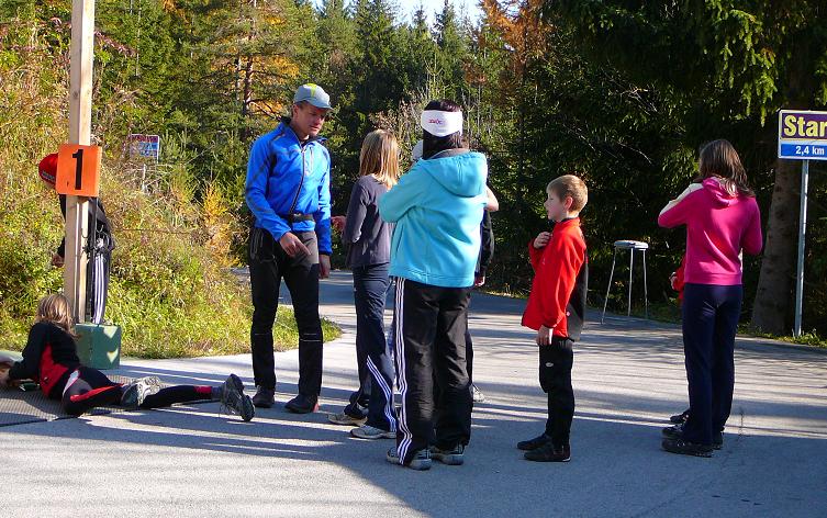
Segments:
[[[59,399],[64,412],[79,416],[98,406],[119,405],[128,409],[160,408],[175,403],[220,401],[228,412],[253,419],[254,408],[244,384],[230,374],[221,386],[178,385],[161,388],[155,376],[133,383],[111,381],[97,369],[80,364],[69,302],[60,294],[41,300],[35,324],[29,331],[23,359],[0,370],[0,386],[32,379],[51,399]]]

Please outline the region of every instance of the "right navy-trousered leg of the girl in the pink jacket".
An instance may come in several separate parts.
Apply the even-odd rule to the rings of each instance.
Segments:
[[[720,286],[724,299],[715,318],[715,347],[712,364],[712,431],[724,429],[733,408],[735,388],[735,335],[741,313],[744,290],[738,286]]]

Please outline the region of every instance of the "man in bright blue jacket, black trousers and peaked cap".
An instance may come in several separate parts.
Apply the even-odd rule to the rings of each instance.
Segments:
[[[317,85],[302,85],[292,113],[250,149],[245,199],[255,223],[249,239],[253,291],[253,403],[275,403],[272,326],[281,280],[290,290],[299,328],[299,394],[286,408],[318,408],[322,390],[322,323],[318,279],[331,271],[331,157],[318,136],[331,110]]]

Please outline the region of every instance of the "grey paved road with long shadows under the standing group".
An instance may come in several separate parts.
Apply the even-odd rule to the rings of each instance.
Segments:
[[[322,410],[356,384],[349,275],[324,283]],[[827,354],[738,342],[726,444],[713,459],[660,450],[664,416],[685,406],[680,330],[638,319],[589,324],[574,362],[569,464],[521,460],[543,429],[536,349],[522,301],[477,294],[470,325],[477,383],[463,466],[390,465],[392,441],[350,439],[325,415],[287,414],[297,353],[279,353],[279,406],[245,424],[215,404],[0,429],[9,516],[827,516]],[[595,322],[594,319],[592,322]],[[252,383],[247,356],[125,361],[121,373]]]

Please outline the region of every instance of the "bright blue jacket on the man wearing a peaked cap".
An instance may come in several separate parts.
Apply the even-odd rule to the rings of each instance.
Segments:
[[[283,119],[253,143],[245,200],[254,226],[276,240],[288,232],[313,232],[318,252],[331,255],[331,155],[324,139],[301,143]]]

